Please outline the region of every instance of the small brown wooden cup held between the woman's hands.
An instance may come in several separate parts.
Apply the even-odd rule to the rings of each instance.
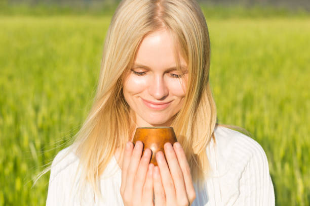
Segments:
[[[164,144],[170,142],[173,145],[177,141],[172,127],[138,127],[133,138],[133,143],[135,144],[138,140],[144,144],[142,155],[146,148],[152,151],[150,163],[153,163],[155,166],[158,166],[155,158],[156,153],[163,151],[166,159]]]

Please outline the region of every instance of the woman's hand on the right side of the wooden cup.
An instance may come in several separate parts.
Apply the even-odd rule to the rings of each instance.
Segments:
[[[157,152],[158,166],[153,169],[154,204],[188,206],[196,198],[196,193],[183,148],[179,142],[173,147],[167,142],[164,149],[169,168],[164,153]]]

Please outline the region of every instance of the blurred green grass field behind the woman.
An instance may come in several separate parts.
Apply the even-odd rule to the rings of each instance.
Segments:
[[[118,2],[0,0],[0,205],[45,205],[33,179],[86,118]],[[308,1],[199,3],[219,122],[264,148],[276,205],[309,205]]]

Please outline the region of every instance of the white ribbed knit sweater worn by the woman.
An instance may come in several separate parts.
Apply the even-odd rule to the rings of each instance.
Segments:
[[[212,177],[201,191],[194,185],[196,199],[192,205],[275,205],[263,148],[252,138],[225,127],[215,129],[215,139],[215,144],[211,140],[206,148]],[[122,171],[114,156],[98,183],[102,200],[90,185],[83,186],[84,196],[79,195],[82,186],[75,178],[81,174],[77,171],[79,159],[71,152],[62,160],[66,150],[68,147],[52,163],[47,205],[124,205],[120,194]]]

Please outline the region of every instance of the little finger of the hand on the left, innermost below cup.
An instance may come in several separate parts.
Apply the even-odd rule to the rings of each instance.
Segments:
[[[153,204],[153,169],[154,165],[151,163],[148,165],[145,184],[143,186],[143,202],[147,202],[147,205]]]

